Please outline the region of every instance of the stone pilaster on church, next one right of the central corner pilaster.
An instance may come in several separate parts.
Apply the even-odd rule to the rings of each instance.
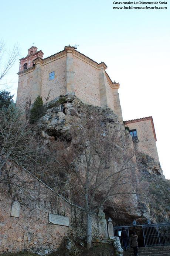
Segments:
[[[105,75],[105,67],[103,67],[103,65],[101,65],[101,67],[99,69],[99,89],[100,89],[101,107],[102,108],[108,108],[106,83],[107,83],[107,78]]]

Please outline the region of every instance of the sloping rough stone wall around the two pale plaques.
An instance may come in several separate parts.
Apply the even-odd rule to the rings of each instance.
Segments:
[[[83,240],[86,236],[85,211],[56,194],[37,178],[16,166],[29,182],[29,188],[0,191],[0,253],[29,250],[40,255],[57,250],[65,236]],[[17,200],[17,201],[16,201]],[[15,202],[20,204],[19,217],[11,214]],[[48,214],[69,218],[69,227],[49,223]],[[107,237],[105,213],[93,215],[93,239]]]

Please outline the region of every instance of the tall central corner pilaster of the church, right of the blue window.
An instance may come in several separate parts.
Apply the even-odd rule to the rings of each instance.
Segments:
[[[66,94],[75,95],[74,92],[74,59],[72,56],[72,52],[74,51],[74,47],[65,47],[67,52],[67,60],[66,60]]]

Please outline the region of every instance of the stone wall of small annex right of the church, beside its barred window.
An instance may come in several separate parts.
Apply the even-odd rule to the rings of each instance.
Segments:
[[[144,152],[159,163],[159,156],[156,147],[156,133],[154,130],[152,116],[125,121],[130,130],[137,131],[137,150]]]

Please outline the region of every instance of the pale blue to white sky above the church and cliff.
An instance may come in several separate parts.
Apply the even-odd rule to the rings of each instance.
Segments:
[[[44,58],[78,44],[78,51],[108,66],[120,83],[123,119],[153,116],[164,175],[170,178],[170,7],[113,10],[111,0],[6,0],[0,6],[0,38],[18,42],[19,58],[33,45]],[[18,58],[18,59],[19,59]],[[3,82],[17,92],[19,60]]]

